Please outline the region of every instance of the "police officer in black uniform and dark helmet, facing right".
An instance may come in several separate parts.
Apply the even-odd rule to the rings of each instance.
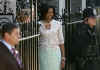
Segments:
[[[96,42],[96,15],[92,8],[83,11],[83,22],[73,33],[70,56],[73,70],[99,70]]]

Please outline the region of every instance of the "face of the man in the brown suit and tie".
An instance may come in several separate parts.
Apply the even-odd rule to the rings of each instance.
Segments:
[[[13,46],[18,45],[20,39],[20,29],[14,28],[11,34],[8,34],[8,39]]]

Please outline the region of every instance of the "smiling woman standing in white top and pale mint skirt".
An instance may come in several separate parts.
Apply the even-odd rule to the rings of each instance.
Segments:
[[[40,70],[61,70],[65,65],[64,38],[61,22],[53,19],[52,6],[41,7],[39,64]]]

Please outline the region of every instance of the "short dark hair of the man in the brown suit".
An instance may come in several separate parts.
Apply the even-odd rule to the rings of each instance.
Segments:
[[[18,24],[16,23],[5,23],[2,25],[1,35],[4,37],[5,33],[11,33],[13,29],[19,28]]]

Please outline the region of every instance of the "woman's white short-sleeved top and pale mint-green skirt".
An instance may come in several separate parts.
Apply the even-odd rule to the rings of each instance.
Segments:
[[[64,44],[62,25],[52,20],[51,28],[46,29],[40,21],[39,64],[40,70],[60,70],[61,51],[59,44]]]

